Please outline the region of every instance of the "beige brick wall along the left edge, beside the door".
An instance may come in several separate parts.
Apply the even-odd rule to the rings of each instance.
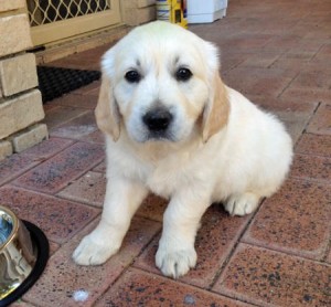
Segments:
[[[0,1],[0,159],[47,137],[24,0]]]

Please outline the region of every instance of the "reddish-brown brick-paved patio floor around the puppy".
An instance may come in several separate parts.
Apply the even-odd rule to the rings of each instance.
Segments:
[[[105,155],[99,82],[72,92],[45,105],[49,140],[0,162],[0,202],[51,242],[44,274],[13,306],[331,306],[331,1],[229,0],[225,19],[190,29],[222,49],[225,83],[287,125],[288,180],[255,214],[212,205],[182,278],[156,268],[166,202],[153,195],[116,256],[79,267],[71,255],[99,220]],[[108,47],[51,64],[98,70]]]

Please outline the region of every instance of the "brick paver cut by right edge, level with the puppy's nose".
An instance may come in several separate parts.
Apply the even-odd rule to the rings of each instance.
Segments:
[[[330,92],[331,94],[331,92]],[[331,135],[331,104],[321,104],[316,115],[310,120],[308,133],[317,135]]]

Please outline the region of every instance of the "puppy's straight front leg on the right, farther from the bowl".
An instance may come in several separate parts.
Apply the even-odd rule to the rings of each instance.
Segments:
[[[209,205],[207,197],[194,199],[192,191],[191,194],[174,195],[170,201],[164,212],[163,232],[156,255],[157,266],[166,276],[178,278],[195,266],[195,235]]]

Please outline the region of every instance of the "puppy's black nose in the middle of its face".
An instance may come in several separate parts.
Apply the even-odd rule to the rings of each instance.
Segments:
[[[143,124],[150,131],[161,133],[167,130],[172,120],[172,114],[164,108],[156,108],[146,113],[142,117]]]

